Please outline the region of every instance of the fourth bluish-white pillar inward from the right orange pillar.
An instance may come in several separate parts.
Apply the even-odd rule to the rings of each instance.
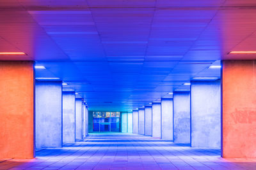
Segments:
[[[161,138],[161,103],[152,103],[152,137]]]

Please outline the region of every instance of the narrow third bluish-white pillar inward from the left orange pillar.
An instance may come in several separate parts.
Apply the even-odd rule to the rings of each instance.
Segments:
[[[82,118],[83,118],[83,99],[76,98],[76,139],[83,139]]]

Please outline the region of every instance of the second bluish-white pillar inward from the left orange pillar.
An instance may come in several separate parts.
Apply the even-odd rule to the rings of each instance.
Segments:
[[[76,94],[62,92],[63,143],[76,142]]]

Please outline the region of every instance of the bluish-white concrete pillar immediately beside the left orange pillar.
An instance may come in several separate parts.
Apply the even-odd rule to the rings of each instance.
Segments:
[[[36,148],[62,147],[62,81],[36,81]]]

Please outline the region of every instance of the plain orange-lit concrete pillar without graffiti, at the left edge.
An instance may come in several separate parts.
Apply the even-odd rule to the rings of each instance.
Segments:
[[[0,159],[34,157],[34,69],[0,61]]]

